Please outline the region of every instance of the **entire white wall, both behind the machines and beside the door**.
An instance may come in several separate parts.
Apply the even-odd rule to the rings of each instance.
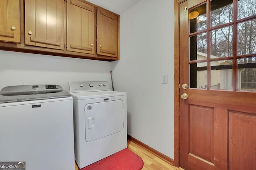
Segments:
[[[22,84],[111,82],[127,92],[128,134],[174,158],[174,12],[172,0],[141,0],[120,15],[120,61],[0,51],[0,89]],[[162,84],[168,74],[168,84]]]

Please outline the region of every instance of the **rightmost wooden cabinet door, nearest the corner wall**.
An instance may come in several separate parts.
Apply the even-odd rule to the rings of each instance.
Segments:
[[[119,17],[98,8],[97,54],[118,57]]]

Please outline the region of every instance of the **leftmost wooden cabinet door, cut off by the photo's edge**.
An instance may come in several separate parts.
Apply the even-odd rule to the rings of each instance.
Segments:
[[[19,0],[0,0],[0,41],[20,43]]]

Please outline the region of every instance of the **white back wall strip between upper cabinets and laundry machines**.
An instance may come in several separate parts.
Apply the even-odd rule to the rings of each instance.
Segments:
[[[58,84],[69,91],[68,82],[108,81],[111,62],[49,55],[0,51],[0,89],[23,84]]]

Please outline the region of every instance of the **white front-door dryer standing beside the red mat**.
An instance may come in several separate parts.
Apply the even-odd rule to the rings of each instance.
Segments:
[[[126,93],[108,82],[69,82],[79,168],[127,148]]]

